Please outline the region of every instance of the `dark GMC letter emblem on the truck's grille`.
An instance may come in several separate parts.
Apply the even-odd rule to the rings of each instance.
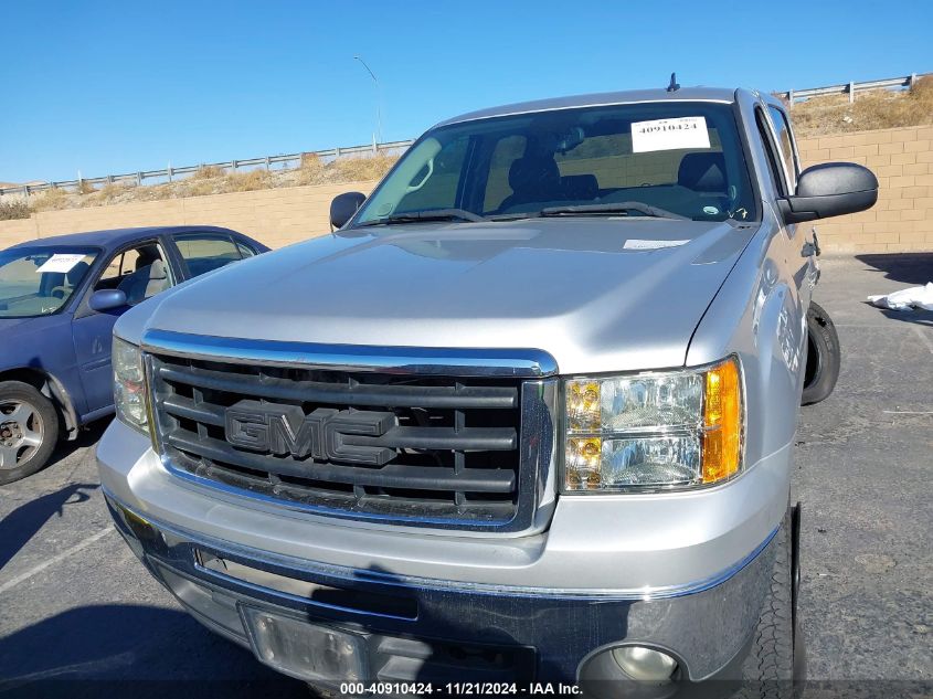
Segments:
[[[306,415],[297,405],[240,401],[225,413],[226,441],[253,452],[315,462],[351,462],[382,466],[396,451],[346,444],[347,435],[379,437],[397,425],[394,413],[318,407]]]

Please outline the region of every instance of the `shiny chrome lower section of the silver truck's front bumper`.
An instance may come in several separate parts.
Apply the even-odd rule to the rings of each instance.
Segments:
[[[369,681],[586,681],[590,658],[625,644],[674,655],[683,679],[733,679],[774,559],[768,539],[724,582],[667,599],[530,594],[296,560],[152,521],[109,493],[107,504],[147,569],[209,628],[280,670],[251,614],[350,632]]]

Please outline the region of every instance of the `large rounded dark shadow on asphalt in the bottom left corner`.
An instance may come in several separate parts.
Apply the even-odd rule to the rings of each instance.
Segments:
[[[188,614],[84,606],[0,638],[0,697],[308,697]]]

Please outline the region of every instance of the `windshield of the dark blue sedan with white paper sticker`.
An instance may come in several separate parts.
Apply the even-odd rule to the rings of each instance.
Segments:
[[[17,247],[0,252],[0,318],[49,316],[81,286],[96,247]]]

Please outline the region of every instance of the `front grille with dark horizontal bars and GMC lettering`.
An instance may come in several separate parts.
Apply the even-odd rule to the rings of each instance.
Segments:
[[[478,530],[528,530],[548,500],[542,381],[146,361],[158,446],[183,477],[336,517]]]

